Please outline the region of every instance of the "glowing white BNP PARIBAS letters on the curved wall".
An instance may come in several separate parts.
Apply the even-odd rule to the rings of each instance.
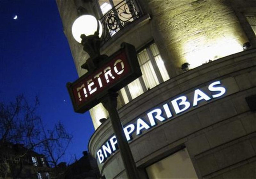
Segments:
[[[189,110],[192,107],[197,107],[199,103],[207,103],[209,100],[221,97],[225,94],[226,89],[220,81],[215,81],[209,84],[208,87],[195,89],[192,93],[171,98],[164,104],[150,109],[132,123],[128,123],[123,128],[126,139],[132,140],[132,135],[140,135],[142,131],[149,130],[158,123],[171,120],[172,117],[179,115],[182,112]],[[99,163],[102,163],[117,150],[117,139],[115,136],[110,137],[104,145],[97,151]]]

